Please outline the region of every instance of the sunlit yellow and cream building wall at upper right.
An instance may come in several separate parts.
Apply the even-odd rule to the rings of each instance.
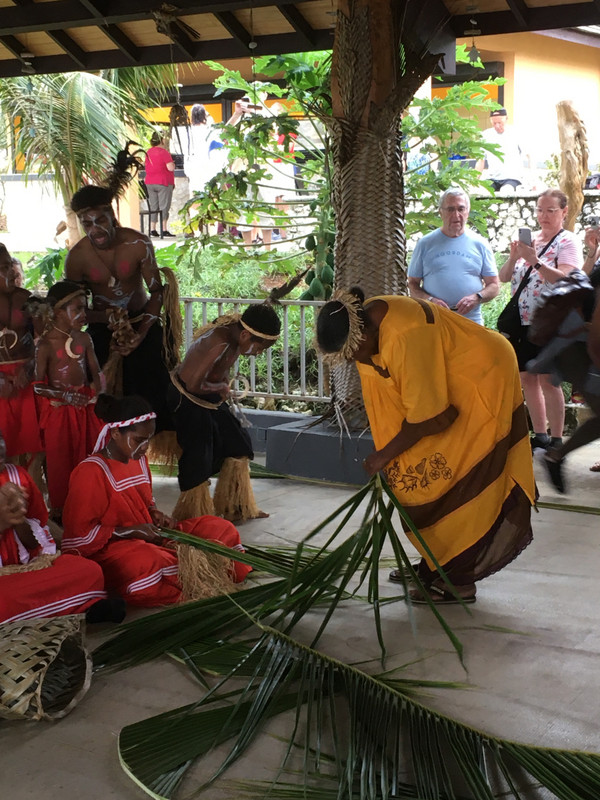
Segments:
[[[459,40],[470,47],[471,39]],[[535,33],[480,36],[484,61],[503,61],[504,105],[533,166],[559,152],[556,104],[570,100],[587,130],[590,166],[600,163],[600,49]]]

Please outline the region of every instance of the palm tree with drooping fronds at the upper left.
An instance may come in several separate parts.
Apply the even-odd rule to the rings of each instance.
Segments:
[[[15,133],[15,153],[27,178],[52,175],[65,205],[68,239],[79,238],[69,209],[74,192],[103,179],[119,150],[148,122],[144,109],[156,104],[174,83],[172,67],[109,70],[106,77],[88,72],[31,75],[0,82],[4,129]]]

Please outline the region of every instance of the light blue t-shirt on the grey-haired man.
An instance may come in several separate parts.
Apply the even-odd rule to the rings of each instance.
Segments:
[[[468,294],[480,292],[483,278],[498,274],[489,243],[478,233],[465,229],[460,236],[446,236],[441,228],[419,239],[408,275],[422,281],[423,290],[439,297],[450,307]],[[481,306],[468,319],[483,325]]]

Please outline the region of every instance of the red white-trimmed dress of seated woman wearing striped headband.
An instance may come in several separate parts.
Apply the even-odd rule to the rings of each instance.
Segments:
[[[126,464],[100,455],[86,458],[73,471],[63,510],[63,552],[93,559],[102,567],[107,588],[128,604],[157,606],[178,602],[181,586],[177,555],[170,547],[140,539],[119,539],[115,528],[152,523],[152,479],[145,457]],[[183,520],[177,530],[242,550],[240,535],[220,517]],[[234,562],[234,580],[250,567]]]

